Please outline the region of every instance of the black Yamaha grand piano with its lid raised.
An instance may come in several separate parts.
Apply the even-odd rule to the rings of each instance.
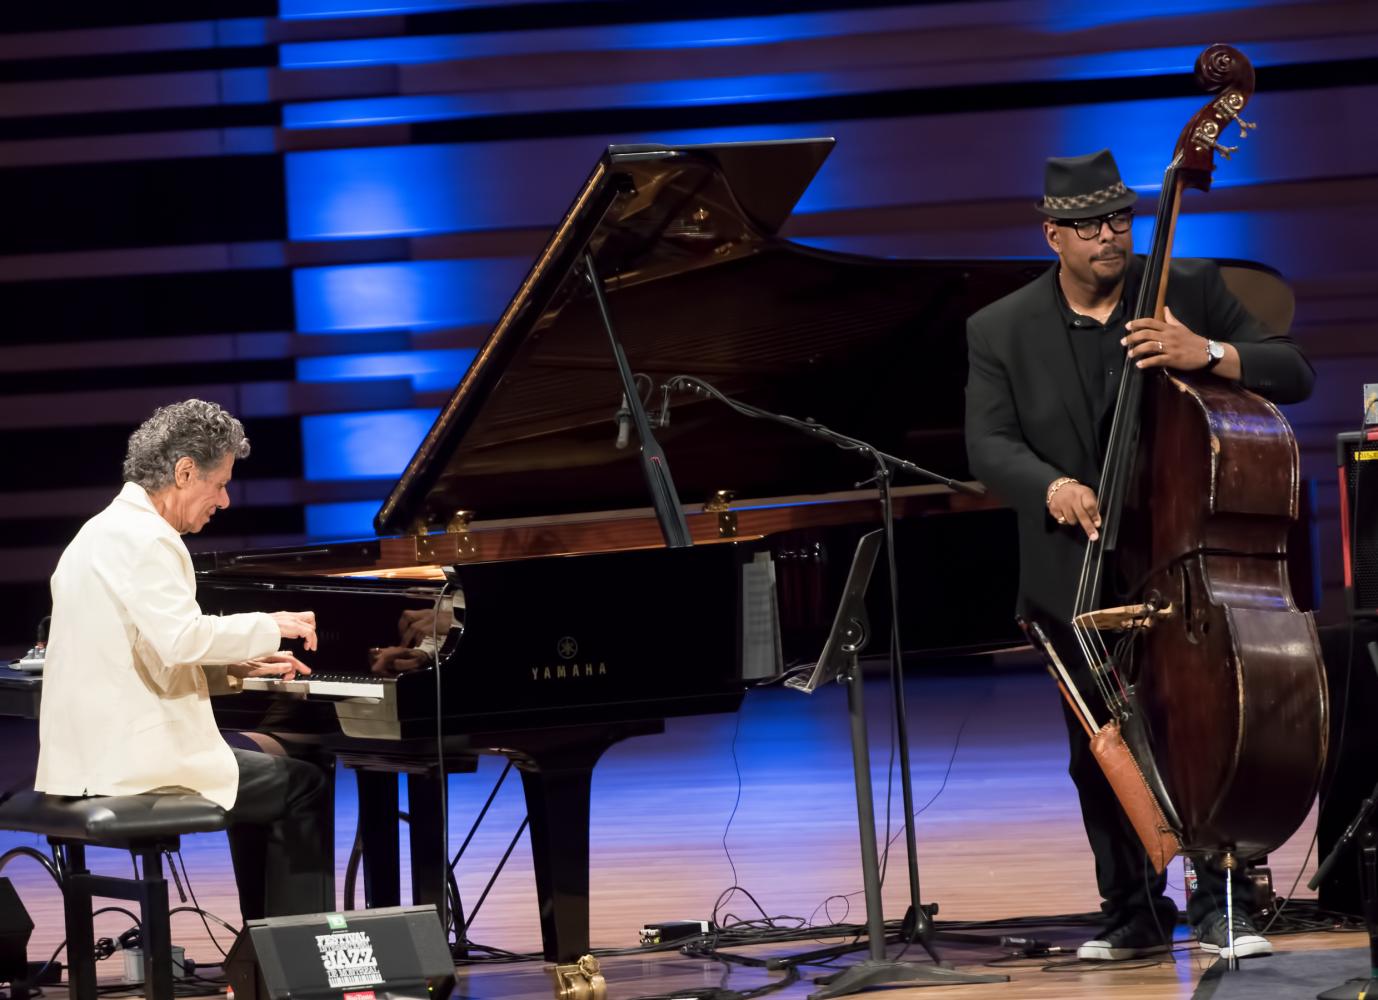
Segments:
[[[438,775],[500,753],[524,782],[544,955],[576,959],[599,755],[667,718],[734,711],[751,685],[817,656],[854,540],[881,515],[871,464],[663,390],[672,376],[969,475],[965,320],[1047,263],[886,260],[781,238],[831,147],[609,147],[382,504],[379,537],[198,556],[207,612],[318,616],[310,680],[216,712],[360,769],[369,905],[397,902],[397,773],[413,782],[413,895],[437,901]],[[637,437],[619,448],[623,380],[593,282],[692,545],[666,545]],[[894,504],[905,647],[1016,645],[1009,511],[903,481]],[[456,612],[437,665],[371,672],[401,613],[442,591]],[[883,635],[887,598],[872,591]]]

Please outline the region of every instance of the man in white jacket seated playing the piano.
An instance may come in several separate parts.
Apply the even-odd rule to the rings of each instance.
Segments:
[[[131,437],[124,488],[81,526],[52,574],[34,788],[50,795],[190,789],[229,811],[245,920],[333,909],[327,778],[314,764],[232,748],[211,694],[245,676],[310,674],[311,612],[203,614],[182,534],[229,507],[244,427],[201,399],[163,406]]]

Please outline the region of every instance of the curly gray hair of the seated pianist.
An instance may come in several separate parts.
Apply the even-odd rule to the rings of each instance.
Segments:
[[[172,485],[178,459],[189,457],[205,475],[226,455],[247,459],[249,439],[244,424],[225,409],[204,399],[185,399],[158,406],[130,435],[124,455],[124,481],[136,482],[149,493]]]

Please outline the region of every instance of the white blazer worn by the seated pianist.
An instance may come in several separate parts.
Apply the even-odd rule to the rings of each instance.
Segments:
[[[209,697],[232,689],[223,664],[277,649],[267,614],[201,614],[182,536],[142,486],[124,483],[52,574],[33,787],[51,795],[183,788],[229,809],[238,767]]]

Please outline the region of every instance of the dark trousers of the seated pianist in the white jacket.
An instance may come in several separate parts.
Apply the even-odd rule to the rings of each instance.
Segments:
[[[232,748],[240,791],[230,860],[245,920],[335,909],[329,770],[309,759]]]

